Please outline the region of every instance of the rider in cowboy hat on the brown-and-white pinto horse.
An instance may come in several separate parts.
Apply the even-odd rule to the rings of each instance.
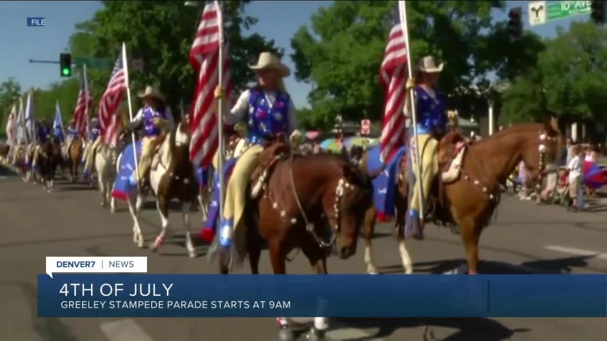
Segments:
[[[143,123],[143,139],[141,140],[143,146],[138,164],[139,174],[133,173],[131,183],[135,183],[136,179],[140,182],[144,181],[152,165],[152,155],[154,155],[156,147],[164,141],[165,133],[170,132],[175,126],[171,108],[166,105],[164,96],[158,90],[148,86],[139,97],[143,99],[144,106],[139,109],[127,129],[132,131]]]

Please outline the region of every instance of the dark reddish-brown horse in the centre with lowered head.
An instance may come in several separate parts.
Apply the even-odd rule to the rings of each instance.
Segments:
[[[253,274],[259,273],[266,243],[274,274],[287,272],[285,260],[292,249],[300,249],[317,274],[327,274],[326,247],[336,246],[341,258],[356,252],[365,208],[371,204],[370,181],[359,169],[337,155],[290,154],[283,137],[266,147],[259,161],[254,174],[260,176],[252,187],[261,192],[246,204],[246,226],[236,229],[232,250],[236,257],[248,254]],[[230,251],[219,252],[220,272],[227,274]],[[279,324],[281,333],[290,333],[286,319],[279,318]],[[325,318],[317,317],[314,325],[325,329]]]

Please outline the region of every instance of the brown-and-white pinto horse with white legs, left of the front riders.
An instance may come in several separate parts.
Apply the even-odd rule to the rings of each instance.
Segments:
[[[160,150],[152,159],[150,170],[150,184],[156,196],[156,206],[160,214],[162,230],[150,245],[152,252],[156,252],[163,244],[169,232],[168,203],[177,199],[181,203],[183,225],[186,227],[186,248],[188,255],[196,257],[194,243],[192,243],[189,212],[191,204],[196,200],[198,184],[194,174],[194,166],[189,159],[189,141],[191,133],[188,118],[182,120],[177,128],[169,133],[160,146]],[[144,202],[144,192],[137,194],[137,203],[133,195],[129,198],[129,212],[134,220],[134,241],[143,247],[143,234],[138,221],[141,205]]]

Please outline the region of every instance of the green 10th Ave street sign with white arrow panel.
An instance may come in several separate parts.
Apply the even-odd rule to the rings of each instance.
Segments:
[[[529,2],[529,24],[541,25],[546,21],[568,18],[569,16],[590,13],[592,1],[546,1]]]

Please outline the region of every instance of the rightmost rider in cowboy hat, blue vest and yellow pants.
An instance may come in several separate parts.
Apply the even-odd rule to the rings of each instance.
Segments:
[[[426,56],[419,61],[417,67],[416,84],[412,79],[407,81],[407,89],[413,88],[415,112],[417,114],[418,141],[415,141],[411,127],[410,139],[410,165],[409,183],[409,214],[405,221],[405,234],[416,238],[423,238],[424,212],[419,212],[419,188],[423,189],[422,200],[426,203],[430,195],[432,181],[438,174],[438,141],[447,129],[447,107],[445,97],[435,90],[439,73],[443,70],[443,64],[436,66],[432,56]],[[409,95],[409,92],[407,92]],[[407,96],[409,102],[409,96]],[[410,116],[410,107],[405,103],[405,113]],[[416,143],[417,142],[417,143]],[[416,153],[421,149],[419,160],[421,162],[422,175],[418,174]],[[418,183],[420,180],[421,183]],[[424,207],[426,207],[424,205]]]

